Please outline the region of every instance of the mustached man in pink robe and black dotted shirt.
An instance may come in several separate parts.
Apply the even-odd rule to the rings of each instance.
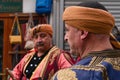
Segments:
[[[69,53],[52,44],[53,29],[49,24],[39,24],[30,31],[34,50],[26,54],[15,66],[12,77],[16,80],[49,80],[59,69],[74,64]]]

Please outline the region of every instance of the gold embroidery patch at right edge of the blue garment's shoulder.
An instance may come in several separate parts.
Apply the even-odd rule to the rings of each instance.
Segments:
[[[106,58],[105,62],[110,63],[114,69],[120,70],[120,57],[117,58]]]

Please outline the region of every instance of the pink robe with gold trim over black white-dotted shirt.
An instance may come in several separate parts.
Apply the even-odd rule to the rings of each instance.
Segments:
[[[68,53],[54,46],[41,57],[36,56],[35,50],[25,55],[12,72],[17,80],[49,80],[57,70],[73,63]]]

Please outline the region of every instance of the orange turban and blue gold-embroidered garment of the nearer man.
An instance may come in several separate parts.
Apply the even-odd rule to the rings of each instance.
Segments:
[[[105,10],[80,6],[66,8],[63,20],[71,27],[106,35],[110,35],[115,23],[113,16]],[[112,45],[120,48],[112,35],[111,39]],[[71,68],[58,71],[51,80],[120,80],[120,50],[87,54]]]

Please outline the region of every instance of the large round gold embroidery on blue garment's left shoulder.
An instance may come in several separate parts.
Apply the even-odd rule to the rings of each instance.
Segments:
[[[76,78],[76,73],[70,69],[60,70],[58,75],[57,75],[57,78],[59,80],[78,80]]]

